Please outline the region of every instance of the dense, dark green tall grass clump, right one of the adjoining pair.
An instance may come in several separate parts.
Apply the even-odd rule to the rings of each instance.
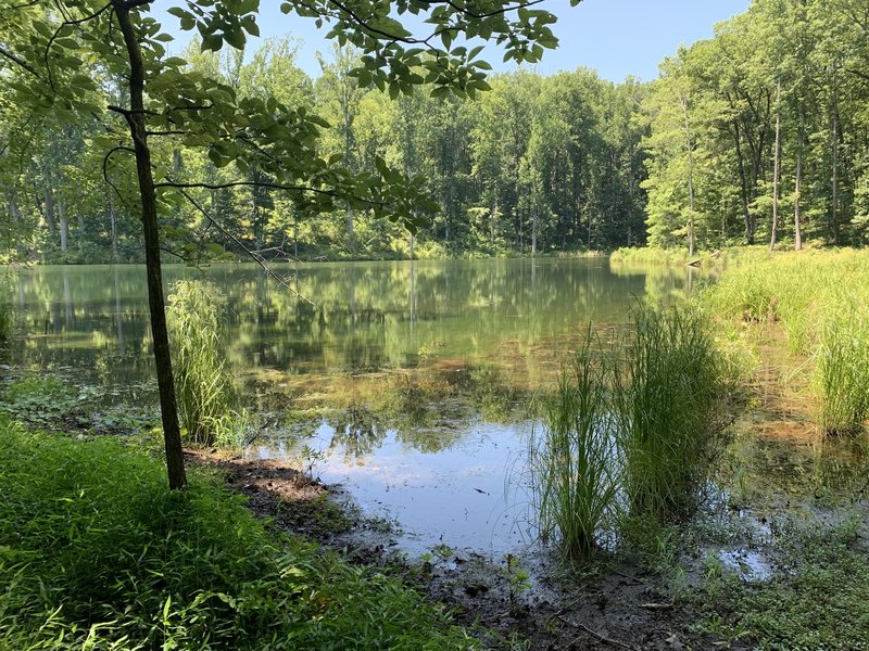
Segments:
[[[630,514],[689,515],[723,449],[732,386],[703,314],[638,308],[614,390]]]

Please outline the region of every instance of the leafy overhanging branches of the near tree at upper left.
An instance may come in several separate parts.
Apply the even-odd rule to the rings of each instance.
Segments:
[[[426,85],[432,95],[473,98],[489,88],[491,69],[479,59],[482,46],[469,47],[475,41],[494,40],[505,61],[529,63],[557,44],[550,27],[555,16],[537,9],[540,1],[294,0],[280,9],[314,20],[340,44],[358,48],[360,66],[352,75],[363,87],[396,98]],[[118,16],[128,14],[142,60],[146,124],[158,143],[153,174],[164,205],[181,195],[189,200],[187,189],[203,187],[173,177],[172,149],[184,146],[203,149],[218,168],[234,164],[239,180],[224,187],[248,184],[247,171],[255,167],[267,179],[259,184],[290,193],[301,215],[349,205],[414,231],[426,213],[437,210],[421,178],[411,179],[379,158],[373,174],[351,171],[341,155],[322,155],[317,143],[329,125],[306,107],[274,97],[239,97],[184,59],[168,56],[165,43],[173,37],[150,7],[143,0],[0,0],[0,74],[14,102],[26,107],[28,120],[97,116],[102,129],[95,142],[106,152],[106,181],[133,163],[134,143],[119,118],[129,119],[130,112],[118,105],[131,63]],[[259,0],[186,0],[168,13],[182,29],[198,33],[203,50],[217,51],[224,43],[243,49],[249,37],[259,36]],[[426,33],[414,34],[412,24]],[[20,136],[10,135],[8,146],[16,138],[25,146]]]

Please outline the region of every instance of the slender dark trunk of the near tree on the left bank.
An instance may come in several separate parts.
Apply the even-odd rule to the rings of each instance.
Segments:
[[[148,131],[144,119],[144,66],[127,3],[123,0],[112,0],[112,5],[121,33],[124,36],[130,66],[130,110],[124,114],[124,117],[129,125],[136,150],[136,173],[141,196],[144,261],[148,276],[148,303],[151,311],[151,335],[154,344],[160,411],[163,420],[163,439],[166,448],[166,470],[168,472],[169,487],[173,489],[184,488],[187,484],[187,477],[184,468],[184,449],[178,426],[178,407],[175,401],[175,382],[172,374],[172,356],[163,299],[156,193],[151,174],[151,150],[148,146]]]

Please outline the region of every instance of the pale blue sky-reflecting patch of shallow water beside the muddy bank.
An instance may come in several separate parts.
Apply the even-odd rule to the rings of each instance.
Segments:
[[[432,451],[387,430],[360,455],[324,422],[303,445],[314,451],[314,476],[347,489],[366,515],[398,522],[396,546],[412,557],[439,546],[503,556],[533,540],[527,490],[507,481],[524,467],[530,432],[529,422],[473,423]],[[275,442],[248,456],[298,459],[299,447]]]

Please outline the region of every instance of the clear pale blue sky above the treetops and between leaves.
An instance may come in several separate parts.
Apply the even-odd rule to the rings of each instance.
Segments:
[[[571,8],[568,0],[546,0],[542,9],[558,16],[554,27],[561,46],[547,51],[538,64],[540,73],[574,69],[579,66],[596,69],[601,77],[621,81],[628,75],[644,80],[657,77],[657,66],[680,44],[690,44],[713,35],[713,26],[744,12],[750,0],[583,0]],[[156,0],[154,17],[164,28],[177,35],[171,49],[181,49],[189,35],[177,30],[177,21],[165,14],[176,4]],[[298,64],[312,76],[319,66],[315,53],[328,52],[330,42],[323,38],[313,21],[278,11],[278,0],[261,0],[260,29],[264,37],[290,35],[302,41]],[[252,43],[253,44],[253,43]],[[515,64],[501,63],[502,53],[494,44],[487,46],[483,59],[495,69],[505,71]]]

